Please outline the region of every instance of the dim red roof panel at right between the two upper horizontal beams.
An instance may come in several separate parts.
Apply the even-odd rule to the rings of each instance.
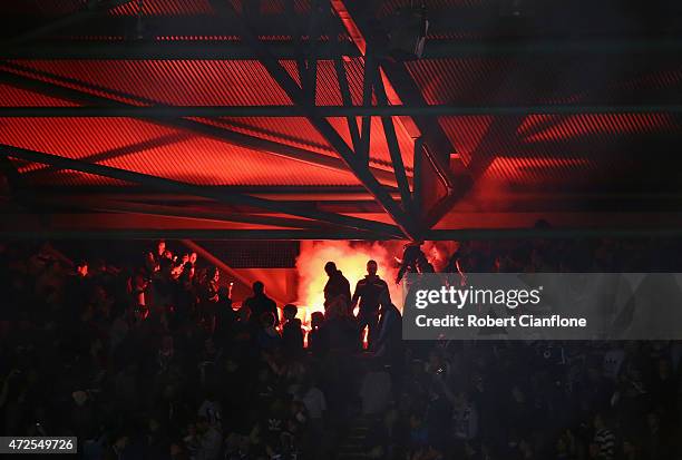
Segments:
[[[421,59],[406,66],[427,104],[682,101],[682,65],[666,57],[466,57]]]

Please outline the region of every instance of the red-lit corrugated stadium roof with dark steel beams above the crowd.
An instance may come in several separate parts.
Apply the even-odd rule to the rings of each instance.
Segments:
[[[626,3],[2,1],[0,235],[678,233],[682,3]]]

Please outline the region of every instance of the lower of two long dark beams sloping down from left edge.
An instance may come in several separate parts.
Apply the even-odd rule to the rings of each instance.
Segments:
[[[203,196],[215,199],[220,203],[237,204],[253,206],[255,208],[272,211],[276,213],[285,213],[292,216],[310,218],[328,224],[335,224],[343,227],[361,229],[364,232],[388,233],[392,236],[401,236],[401,232],[394,225],[383,224],[378,222],[366,221],[362,218],[344,216],[335,213],[329,213],[311,208],[309,206],[284,205],[280,202],[273,202],[265,198],[259,198],[251,195],[240,193],[228,193],[225,190],[216,190],[205,188],[198,185],[183,183],[163,177],[150,176],[147,174],[135,173],[127,169],[113,168],[109,166],[97,165],[77,159],[70,159],[58,155],[45,154],[23,148],[17,148],[0,144],[2,151],[0,155],[6,155],[14,158],[20,158],[27,162],[41,163],[52,165],[64,169],[72,169],[80,173],[94,174],[97,176],[110,177],[118,180],[138,183],[153,188],[177,192],[194,196]]]

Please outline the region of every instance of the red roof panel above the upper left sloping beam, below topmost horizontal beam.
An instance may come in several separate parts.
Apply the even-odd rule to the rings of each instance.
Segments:
[[[201,61],[204,62],[204,61]],[[259,90],[253,87],[241,87],[242,82],[223,86],[223,90],[216,91],[213,81],[217,80],[221,70],[224,66],[236,63],[236,61],[218,62],[218,68],[211,67],[212,71],[207,77],[198,69],[205,69],[199,61],[174,61],[170,63],[163,62],[114,62],[114,61],[22,61],[22,67],[35,69],[45,72],[48,76],[56,76],[60,79],[59,84],[64,85],[67,79],[68,86],[94,92],[96,95],[111,97],[116,95],[118,100],[139,105],[139,100],[156,100],[163,104],[179,104],[179,105],[231,105],[231,104],[281,104],[281,100],[266,100],[272,96],[272,91]],[[158,67],[152,68],[156,63]],[[286,70],[296,79],[298,69],[293,61],[286,61]],[[197,67],[198,66],[198,67]],[[260,65],[259,65],[260,66]],[[166,72],[165,69],[173,69],[172,72]],[[142,69],[142,71],[140,71]],[[323,63],[323,72],[328,71],[327,77],[321,76],[318,85],[318,95],[323,100],[337,102],[333,100],[333,95],[339,95],[338,82],[335,81],[335,70],[333,63],[327,61]],[[352,89],[353,99],[361,102],[362,91],[362,75],[359,69],[359,62],[347,63],[349,85]],[[263,72],[265,70],[263,69]],[[235,79],[236,79],[235,72]],[[35,77],[35,76],[32,76]],[[42,76],[45,78],[45,76]],[[329,77],[329,78],[328,78]],[[270,78],[270,77],[267,77]],[[48,81],[53,79],[45,78]],[[256,85],[256,79],[253,84]],[[85,88],[78,82],[82,81]],[[172,81],[172,82],[169,82]],[[272,85],[275,85],[272,81]],[[334,87],[335,84],[335,87]],[[101,89],[100,89],[101,88]],[[276,86],[282,97],[283,91]],[[134,98],[126,98],[125,95],[130,95]],[[338,96],[340,98],[340,96]],[[247,100],[252,98],[252,100]],[[253,100],[257,98],[259,100]],[[340,102],[340,101],[339,101]],[[47,104],[48,106],[50,104]],[[296,147],[308,148],[325,155],[335,155],[333,149],[319,135],[312,125],[305,118],[222,118],[222,119],[203,119],[204,123],[210,123],[217,126],[225,126],[230,129],[245,133],[249,135],[263,137],[270,140],[293,145]],[[350,135],[345,126],[344,118],[330,119],[330,123],[337,128],[341,136],[350,145]],[[373,166],[390,169],[391,158],[386,144],[383,128],[380,119],[372,120],[372,134],[370,145],[370,160]],[[408,172],[412,166],[412,139],[407,134],[397,129],[398,139],[401,146],[403,164]]]

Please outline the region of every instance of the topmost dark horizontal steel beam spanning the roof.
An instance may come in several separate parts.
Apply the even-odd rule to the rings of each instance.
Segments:
[[[198,29],[197,35],[210,35]],[[277,59],[295,59],[299,50],[290,41],[270,43],[272,53]],[[427,40],[422,59],[448,59],[467,57],[504,58],[508,56],[585,56],[613,55],[624,58],[636,53],[665,57],[682,52],[682,40]],[[362,57],[358,47],[349,42],[339,43],[338,51],[320,50],[320,59],[343,57]],[[160,41],[160,40],[124,40],[119,42],[88,42],[86,40],[64,40],[59,42],[36,42],[26,45],[0,43],[2,59],[80,59],[80,60],[251,60],[256,59],[246,46],[234,41]]]

